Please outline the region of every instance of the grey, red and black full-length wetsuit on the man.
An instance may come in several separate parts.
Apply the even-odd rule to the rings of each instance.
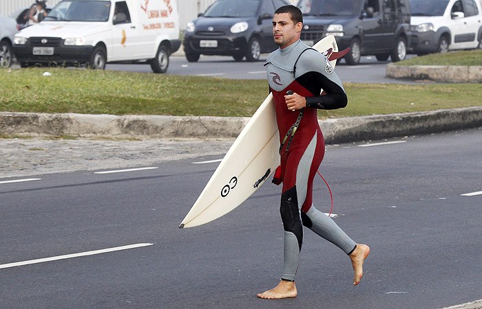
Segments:
[[[303,241],[302,225],[333,242],[346,254],[355,250],[351,240],[336,223],[313,207],[313,179],[322,163],[325,145],[317,121],[317,108],[346,106],[343,84],[328,59],[315,49],[297,41],[271,53],[266,60],[266,76],[275,102],[280,130],[281,179],[280,213],[284,225],[284,269],[282,279],[295,279]],[[320,95],[321,91],[326,95]],[[306,98],[306,108],[290,111],[284,99],[287,91]],[[286,133],[299,121],[289,143]],[[288,134],[288,136],[291,136]],[[288,148],[288,150],[286,150]]]

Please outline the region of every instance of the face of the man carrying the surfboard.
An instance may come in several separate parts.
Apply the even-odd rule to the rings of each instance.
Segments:
[[[302,23],[295,24],[289,13],[275,14],[273,17],[273,37],[281,49],[300,39]]]

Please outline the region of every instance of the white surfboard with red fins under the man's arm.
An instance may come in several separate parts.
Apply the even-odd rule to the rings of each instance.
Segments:
[[[338,52],[335,36],[322,38],[313,48],[324,52],[333,68],[336,59],[349,50]],[[270,93],[224,155],[179,227],[196,227],[211,222],[246,201],[280,165],[278,148],[280,133]]]

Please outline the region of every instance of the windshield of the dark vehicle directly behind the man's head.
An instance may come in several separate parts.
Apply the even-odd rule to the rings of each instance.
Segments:
[[[355,16],[362,0],[300,0],[297,7],[304,16]]]

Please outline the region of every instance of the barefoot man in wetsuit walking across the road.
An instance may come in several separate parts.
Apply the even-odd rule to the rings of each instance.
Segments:
[[[302,27],[300,9],[286,5],[276,10],[273,36],[280,48],[269,55],[265,65],[282,144],[280,213],[284,225],[282,279],[275,288],[258,294],[265,299],[296,297],[295,275],[302,247],[302,225],[333,242],[350,257],[355,271],[354,285],[362,279],[363,262],[370,253],[366,244],[353,242],[311,203],[313,178],[324,156],[317,108],[342,108],[348,100],[328,59],[300,41]],[[320,95],[322,89],[326,95]]]

